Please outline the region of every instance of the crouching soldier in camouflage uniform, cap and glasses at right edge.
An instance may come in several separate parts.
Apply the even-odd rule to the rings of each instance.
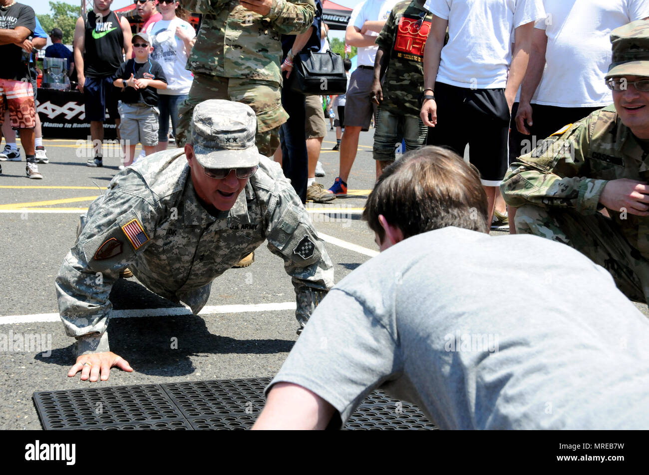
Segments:
[[[613,105],[519,157],[500,189],[518,233],[569,244],[649,301],[649,23],[613,30],[611,43]]]

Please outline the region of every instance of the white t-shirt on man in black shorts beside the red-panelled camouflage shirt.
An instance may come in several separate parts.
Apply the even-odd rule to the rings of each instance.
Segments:
[[[427,0],[424,8],[448,20],[437,81],[473,89],[505,87],[510,32],[545,18],[541,0]]]

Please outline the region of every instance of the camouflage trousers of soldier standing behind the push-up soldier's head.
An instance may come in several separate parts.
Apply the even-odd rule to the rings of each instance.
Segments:
[[[267,157],[280,145],[280,126],[288,119],[280,100],[281,86],[272,81],[246,78],[221,78],[219,76],[194,74],[190,96],[178,107],[176,143],[182,147],[190,131],[194,107],[204,100],[225,99],[251,106],[257,114],[255,143],[260,154]]]

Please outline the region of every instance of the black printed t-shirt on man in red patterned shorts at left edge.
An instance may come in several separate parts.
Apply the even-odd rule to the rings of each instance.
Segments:
[[[30,36],[36,29],[36,15],[31,6],[14,3],[12,6],[0,7],[0,29],[15,30],[16,27],[25,27]],[[0,67],[0,78],[21,80],[29,77],[27,63],[23,62],[23,49],[18,45],[0,46],[0,58],[3,59]]]

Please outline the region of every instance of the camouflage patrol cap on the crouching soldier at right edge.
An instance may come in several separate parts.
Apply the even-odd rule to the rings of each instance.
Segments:
[[[613,58],[606,79],[613,76],[649,77],[649,21],[631,21],[611,31]]]

